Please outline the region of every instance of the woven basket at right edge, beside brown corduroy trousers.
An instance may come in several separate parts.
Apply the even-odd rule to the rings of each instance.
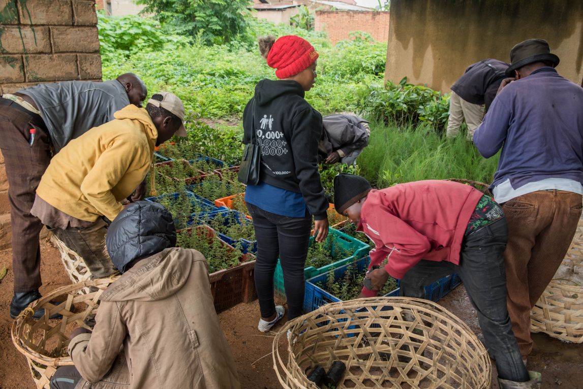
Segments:
[[[573,242],[542,296],[531,310],[531,332],[583,343],[583,219]]]

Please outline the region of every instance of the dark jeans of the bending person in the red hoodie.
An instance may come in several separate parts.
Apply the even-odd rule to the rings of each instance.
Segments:
[[[498,377],[524,382],[528,370],[522,363],[518,343],[506,307],[504,249],[508,241],[506,218],[485,225],[463,238],[459,265],[422,260],[401,280],[401,295],[424,298],[424,287],[457,273],[477,311],[486,348],[496,359]]]

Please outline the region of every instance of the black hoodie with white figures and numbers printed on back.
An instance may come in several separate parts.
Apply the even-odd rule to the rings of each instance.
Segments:
[[[318,173],[322,115],[304,100],[293,80],[261,80],[243,112],[243,142],[261,146],[261,182],[301,193],[315,220],[324,220],[328,201]]]

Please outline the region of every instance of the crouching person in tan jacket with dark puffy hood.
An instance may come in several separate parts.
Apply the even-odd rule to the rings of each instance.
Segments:
[[[174,247],[166,208],[129,204],[106,243],[122,275],[101,295],[93,332],[71,335],[75,366],[59,367],[51,388],[240,388],[205,257]]]

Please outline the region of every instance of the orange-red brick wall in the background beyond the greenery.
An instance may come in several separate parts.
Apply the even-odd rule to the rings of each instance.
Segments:
[[[326,31],[332,43],[349,38],[352,31],[364,31],[375,41],[389,37],[389,13],[380,11],[318,10],[314,20],[316,31]]]

